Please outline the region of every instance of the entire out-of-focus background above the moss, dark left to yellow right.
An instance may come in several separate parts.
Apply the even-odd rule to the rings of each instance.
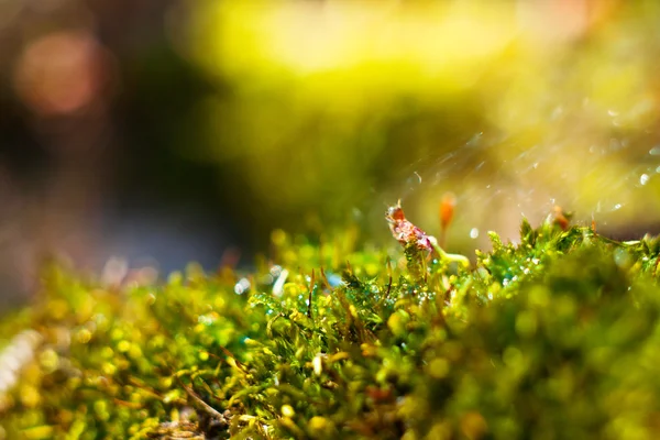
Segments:
[[[384,212],[472,255],[660,231],[660,2],[0,0],[0,302],[44,257],[249,264]],[[396,245],[396,243],[394,243]],[[118,260],[119,258],[119,260]]]

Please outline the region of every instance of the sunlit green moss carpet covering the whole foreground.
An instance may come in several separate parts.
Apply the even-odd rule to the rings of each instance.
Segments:
[[[641,439],[660,429],[657,239],[524,221],[520,244],[492,234],[493,251],[466,270],[410,246],[406,257],[354,252],[350,237],[319,249],[278,231],[282,267],[243,276],[191,265],[156,286],[105,288],[48,267],[34,305],[0,324],[11,366],[0,381],[15,375],[0,394],[1,436]]]

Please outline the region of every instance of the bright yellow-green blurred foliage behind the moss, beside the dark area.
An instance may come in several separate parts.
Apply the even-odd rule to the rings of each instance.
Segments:
[[[514,238],[520,212],[554,204],[650,224],[659,8],[199,2],[178,47],[217,91],[194,113],[207,142],[183,154],[235,176],[262,228],[380,216],[399,197],[428,222],[447,190],[462,249],[473,227]]]

